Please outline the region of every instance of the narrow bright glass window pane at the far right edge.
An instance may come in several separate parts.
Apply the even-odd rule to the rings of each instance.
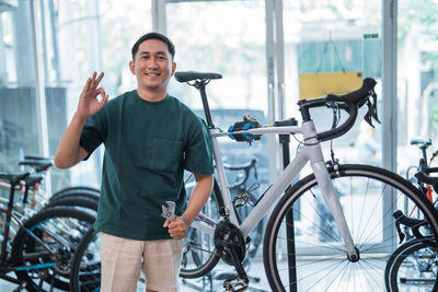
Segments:
[[[437,150],[437,1],[399,1],[397,168],[403,175],[410,166],[418,165],[422,156],[420,149],[411,143],[414,139],[430,139],[428,163]]]

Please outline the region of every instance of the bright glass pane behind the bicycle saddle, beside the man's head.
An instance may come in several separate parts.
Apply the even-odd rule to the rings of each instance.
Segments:
[[[266,112],[264,1],[170,3],[166,17],[176,45],[177,71],[223,75],[208,85],[211,108]],[[187,89],[186,84],[172,85],[186,104],[201,108],[200,98],[187,94]]]

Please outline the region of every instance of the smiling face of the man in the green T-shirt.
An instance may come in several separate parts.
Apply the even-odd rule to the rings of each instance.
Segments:
[[[173,62],[168,45],[151,38],[140,44],[129,68],[137,77],[140,97],[157,101],[168,94],[169,80],[175,72],[176,63]]]

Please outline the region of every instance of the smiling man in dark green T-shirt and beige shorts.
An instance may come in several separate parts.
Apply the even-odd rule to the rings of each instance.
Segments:
[[[59,142],[55,164],[71,167],[105,145],[95,222],[101,232],[102,291],[136,291],[140,266],[147,291],[177,291],[182,248],[176,240],[184,238],[212,188],[209,136],[188,107],[168,95],[176,69],[171,40],[149,33],[131,54],[137,90],[107,102],[99,87],[103,73],[94,72]],[[197,180],[188,206],[184,168]],[[176,202],[173,222],[160,215],[165,201]]]

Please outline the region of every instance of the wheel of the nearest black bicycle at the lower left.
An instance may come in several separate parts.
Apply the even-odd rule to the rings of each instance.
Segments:
[[[70,260],[80,240],[92,227],[94,220],[95,217],[90,212],[70,207],[53,207],[41,210],[30,218],[24,226],[61,255],[61,259],[54,259],[23,229],[20,229],[12,243],[12,265],[56,262],[54,268],[47,269],[44,281],[46,283],[53,282],[54,288],[68,291]],[[43,290],[38,289],[41,280],[38,270],[16,270],[15,275],[18,279],[27,283],[26,289],[28,291],[46,291],[44,288]]]

